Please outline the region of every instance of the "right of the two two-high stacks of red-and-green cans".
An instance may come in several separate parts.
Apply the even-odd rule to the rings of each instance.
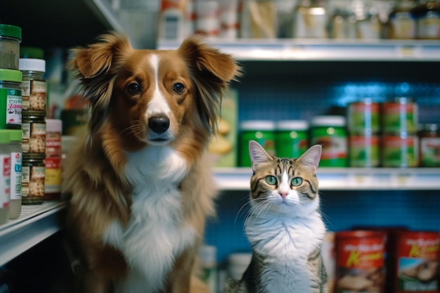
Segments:
[[[382,166],[418,167],[418,105],[398,97],[382,103]]]

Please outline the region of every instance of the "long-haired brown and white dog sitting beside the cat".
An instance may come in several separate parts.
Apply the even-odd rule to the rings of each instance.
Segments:
[[[63,164],[78,291],[205,292],[193,266],[214,215],[207,143],[240,67],[196,37],[137,50],[115,33],[73,49],[69,66],[90,106]]]

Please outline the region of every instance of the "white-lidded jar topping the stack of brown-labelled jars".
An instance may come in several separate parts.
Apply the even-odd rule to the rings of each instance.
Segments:
[[[20,71],[23,74],[22,110],[46,111],[47,83],[44,79],[46,61],[22,58]]]

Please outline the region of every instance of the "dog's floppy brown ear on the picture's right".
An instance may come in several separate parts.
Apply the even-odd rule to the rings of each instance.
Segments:
[[[229,82],[241,76],[240,66],[235,59],[209,46],[201,37],[185,39],[178,49],[185,60],[191,77],[197,86],[198,110],[202,123],[213,131],[216,127],[223,92]]]

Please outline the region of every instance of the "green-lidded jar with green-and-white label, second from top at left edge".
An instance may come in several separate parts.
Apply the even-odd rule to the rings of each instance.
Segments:
[[[22,73],[0,69],[0,129],[21,129]]]

